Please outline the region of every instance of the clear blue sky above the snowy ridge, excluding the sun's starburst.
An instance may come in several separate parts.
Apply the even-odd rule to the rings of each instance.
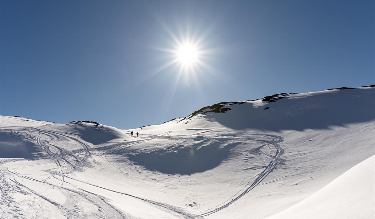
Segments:
[[[0,1],[0,114],[121,129],[223,101],[375,84],[375,1]],[[156,47],[215,49],[177,80]],[[176,82],[177,81],[177,82]]]

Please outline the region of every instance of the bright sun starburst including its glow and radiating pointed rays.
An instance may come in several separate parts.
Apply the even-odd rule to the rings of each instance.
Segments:
[[[168,33],[169,39],[165,38],[165,46],[153,46],[153,49],[163,52],[163,55],[160,54],[158,57],[163,60],[163,63],[146,78],[164,72],[166,69],[172,73],[165,72],[168,77],[173,77],[169,98],[166,98],[166,108],[169,108],[178,86],[185,85],[201,93],[201,81],[210,80],[211,77],[223,81],[223,74],[210,65],[215,62],[215,55],[223,52],[223,48],[212,47],[214,37],[208,40],[212,36],[211,27],[206,26],[202,29],[187,24],[185,28],[177,26],[174,32],[163,22],[160,24]]]

